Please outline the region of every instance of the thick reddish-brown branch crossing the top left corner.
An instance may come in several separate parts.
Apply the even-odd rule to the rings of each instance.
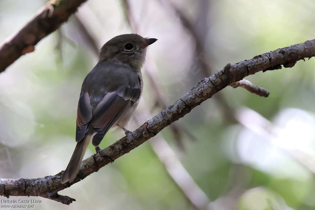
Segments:
[[[20,31],[0,47],[0,72],[29,52],[35,45],[60,25],[87,0],[51,0]]]

